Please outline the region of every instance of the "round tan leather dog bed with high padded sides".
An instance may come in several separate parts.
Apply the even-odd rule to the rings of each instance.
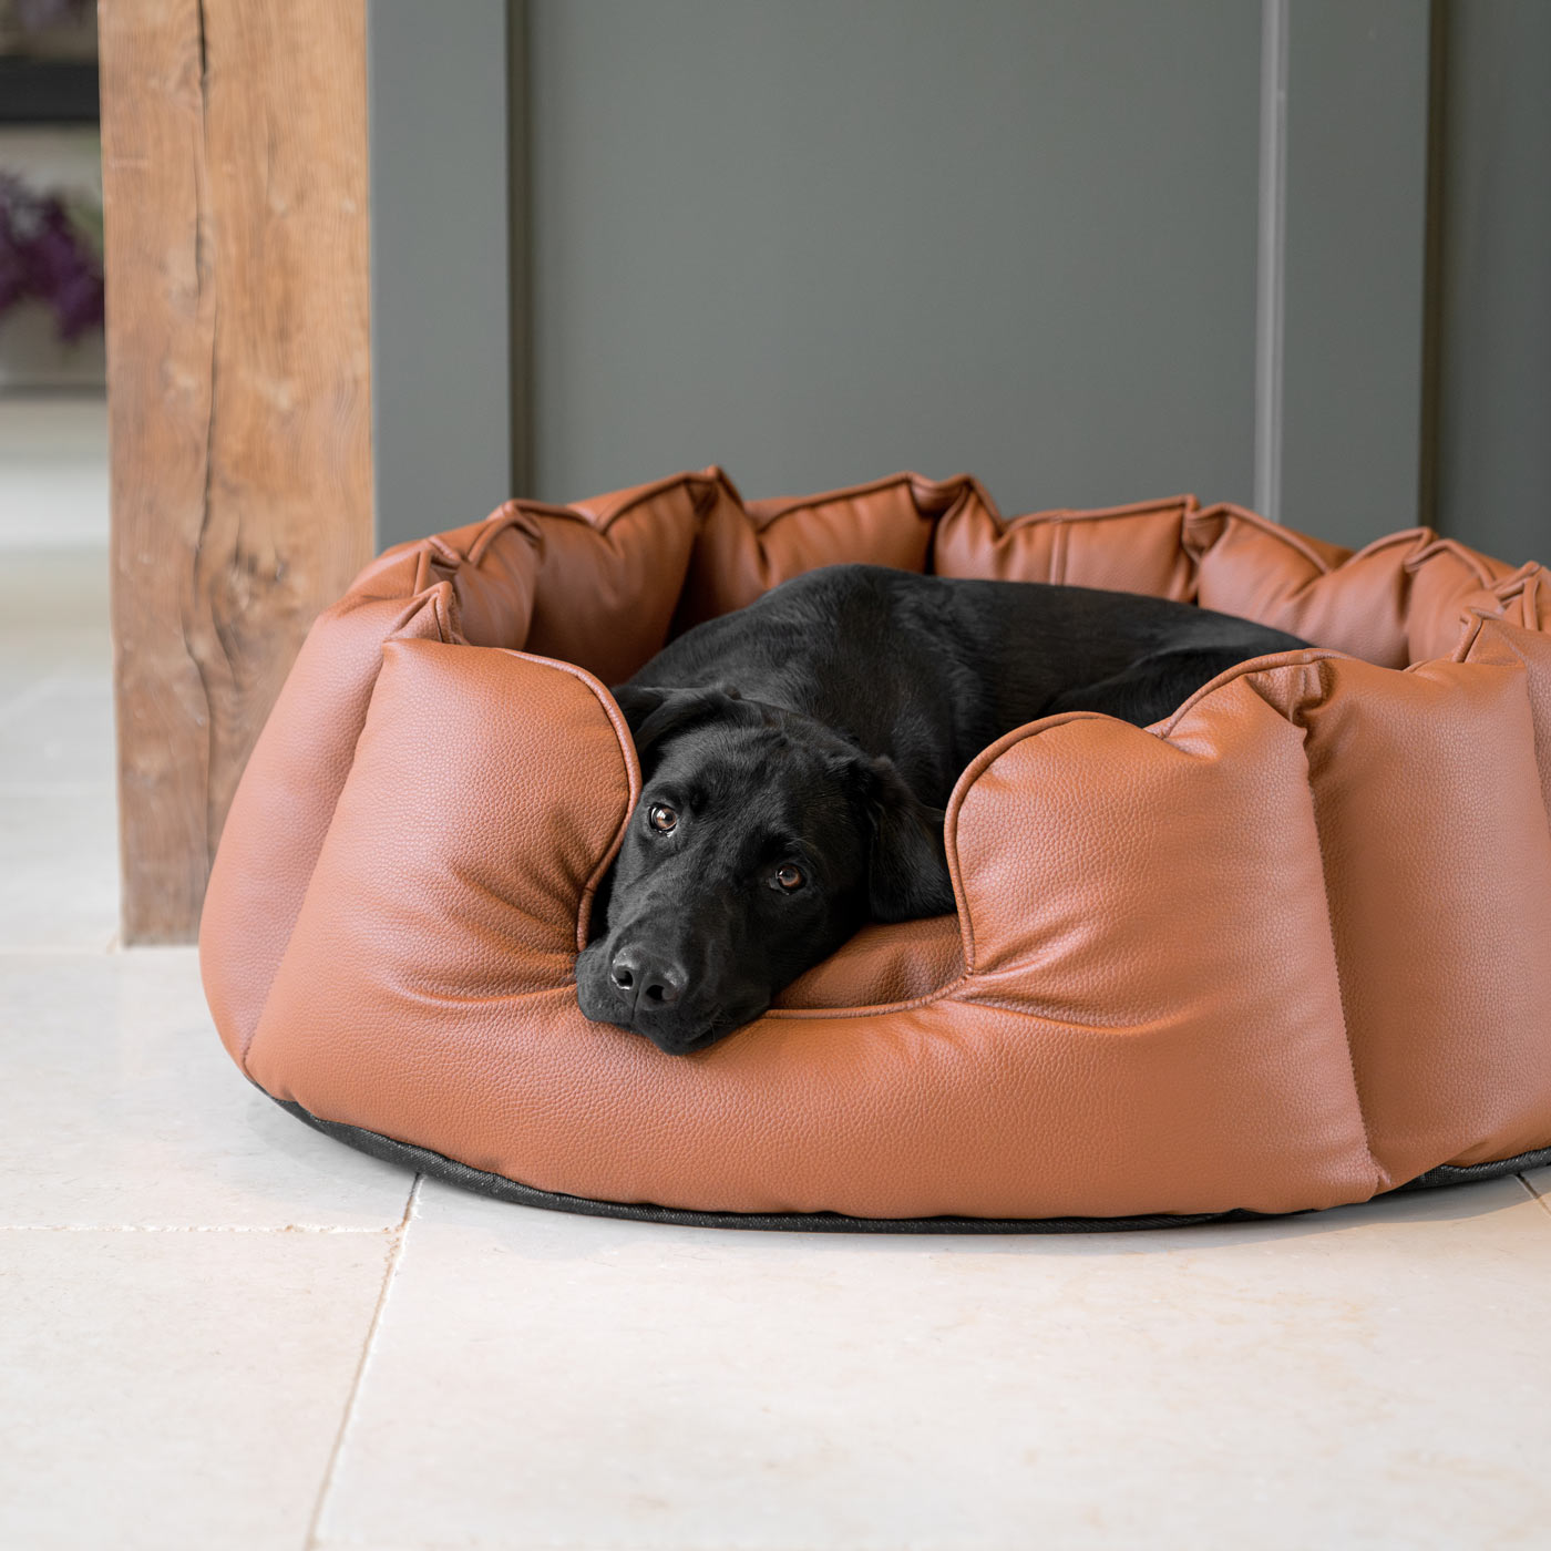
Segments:
[[[1320,648],[1138,729],[1052,717],[948,811],[957,917],[864,931],[695,1056],[572,965],[639,789],[605,684],[808,568],[1154,592]],[[200,952],[233,1058],[346,1142],[540,1205],[758,1227],[1283,1213],[1551,1160],[1551,582],[1191,498],[678,475],[389,551],[315,625]],[[1093,1222],[1093,1219],[1104,1219]]]

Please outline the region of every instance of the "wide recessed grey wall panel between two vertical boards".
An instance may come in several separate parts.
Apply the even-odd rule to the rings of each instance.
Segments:
[[[532,0],[535,492],[1253,478],[1245,0]]]

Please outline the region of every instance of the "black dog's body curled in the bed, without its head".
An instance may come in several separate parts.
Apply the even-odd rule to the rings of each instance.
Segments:
[[[641,686],[727,686],[887,755],[927,803],[1003,732],[1061,710],[1137,724],[1249,658],[1304,645],[1190,603],[825,566],[672,642]]]

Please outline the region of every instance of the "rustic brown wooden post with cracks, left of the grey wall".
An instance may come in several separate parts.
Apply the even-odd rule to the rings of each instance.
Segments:
[[[123,937],[372,552],[364,0],[101,0]],[[279,839],[284,844],[284,838]]]

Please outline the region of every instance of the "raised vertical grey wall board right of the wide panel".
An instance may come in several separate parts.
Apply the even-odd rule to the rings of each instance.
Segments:
[[[1422,465],[1427,6],[1292,0],[1281,490],[1360,544],[1416,523]]]

